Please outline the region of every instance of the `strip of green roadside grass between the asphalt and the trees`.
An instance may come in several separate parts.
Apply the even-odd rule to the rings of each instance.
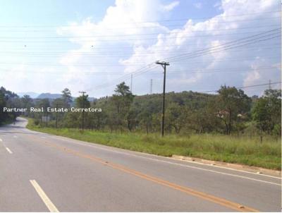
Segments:
[[[259,137],[213,134],[166,135],[161,138],[159,134],[121,134],[95,130],[84,130],[82,132],[82,130],[73,128],[42,128],[35,126],[30,118],[27,128],[42,133],[166,157],[178,154],[281,170],[281,140],[276,141],[270,136],[264,137],[263,142],[260,142]]]

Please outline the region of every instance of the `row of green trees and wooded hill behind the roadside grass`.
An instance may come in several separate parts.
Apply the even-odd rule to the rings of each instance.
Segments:
[[[262,134],[281,135],[281,90],[266,90],[262,97],[248,97],[243,90],[222,86],[218,95],[198,92],[166,94],[166,133],[244,133],[252,128]],[[0,104],[3,105],[0,93]],[[156,133],[160,131],[161,95],[135,96],[125,83],[116,86],[114,95],[90,102],[88,96],[75,99],[71,91],[62,91],[59,99],[19,98],[11,93],[10,104],[23,108],[101,108],[102,112],[85,112],[84,127],[109,130]],[[1,118],[2,115],[0,114]],[[37,125],[57,128],[81,128],[82,114],[30,113]]]

